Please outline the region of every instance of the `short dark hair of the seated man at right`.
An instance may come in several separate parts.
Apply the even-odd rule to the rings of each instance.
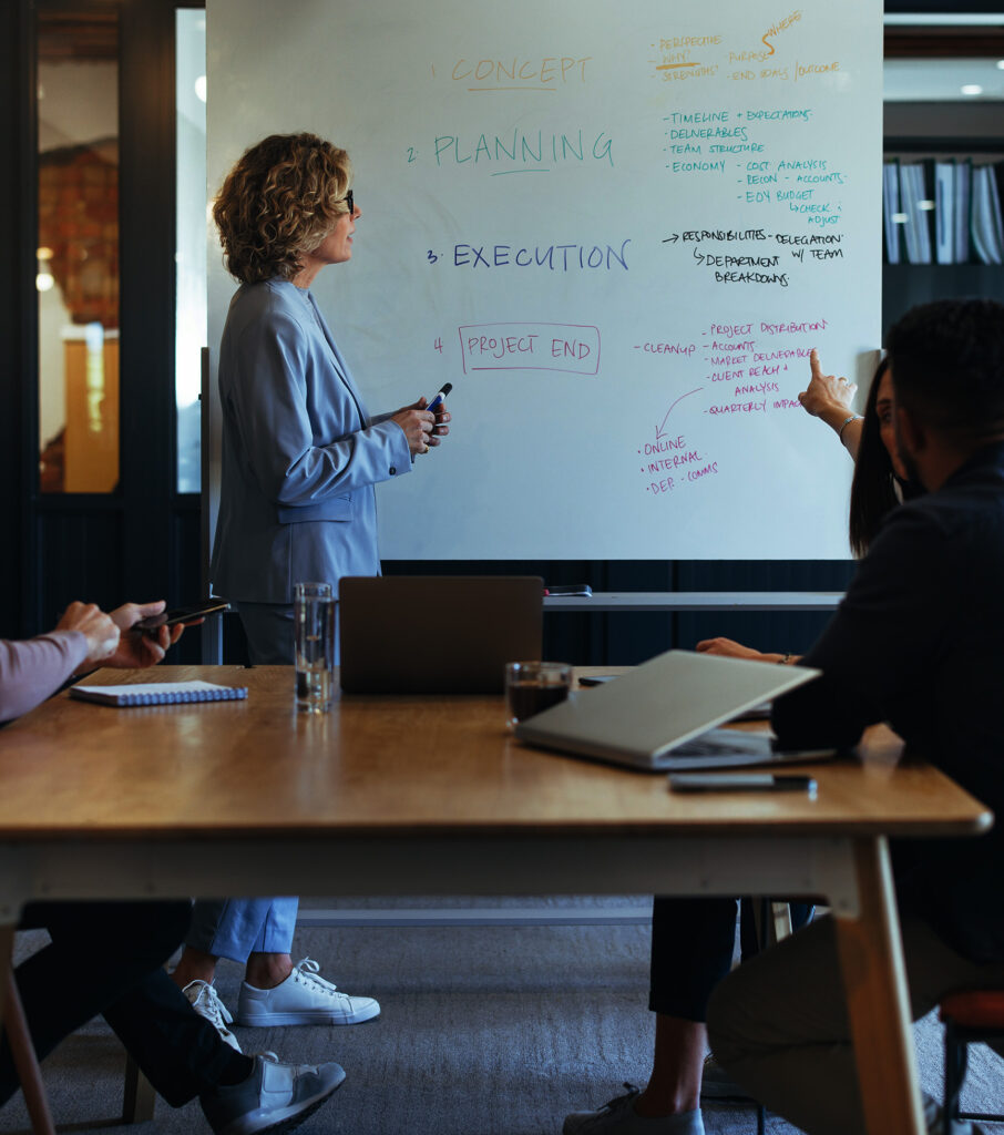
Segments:
[[[896,401],[925,426],[971,444],[1004,432],[1004,304],[939,300],[886,335]]]

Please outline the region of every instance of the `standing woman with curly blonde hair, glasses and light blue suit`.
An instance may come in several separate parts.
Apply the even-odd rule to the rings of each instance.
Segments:
[[[348,154],[314,134],[271,135],[227,175],[213,218],[239,281],[220,344],[222,479],[211,578],[236,606],[251,661],[293,662],[293,585],[378,575],[373,486],[411,472],[448,432],[420,398],[372,418],[310,285],[352,259],[362,213]],[[242,1025],[352,1025],[376,1017],[293,965],[297,899],[199,901],[175,981],[228,1041],[218,958],[246,962]]]

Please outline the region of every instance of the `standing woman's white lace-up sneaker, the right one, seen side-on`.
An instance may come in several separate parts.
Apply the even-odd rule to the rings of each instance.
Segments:
[[[317,961],[304,958],[285,982],[258,990],[247,982],[237,999],[239,1025],[358,1025],[380,1015],[371,997],[349,997],[318,975]]]

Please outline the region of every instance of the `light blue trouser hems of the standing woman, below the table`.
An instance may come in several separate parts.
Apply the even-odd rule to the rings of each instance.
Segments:
[[[299,899],[196,899],[185,944],[214,958],[289,953]]]

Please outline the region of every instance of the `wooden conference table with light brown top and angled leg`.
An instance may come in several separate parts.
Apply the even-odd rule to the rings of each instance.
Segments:
[[[159,667],[246,701],[51,699],[0,731],[0,960],[26,901],[282,893],[813,894],[837,916],[868,1129],[920,1135],[887,836],[992,817],[936,770],[861,765],[794,792],[673,796],[664,776],[512,740],[492,697],[345,698],[310,717],[289,667]],[[337,876],[331,865],[337,864]],[[0,983],[2,990],[2,983]]]

